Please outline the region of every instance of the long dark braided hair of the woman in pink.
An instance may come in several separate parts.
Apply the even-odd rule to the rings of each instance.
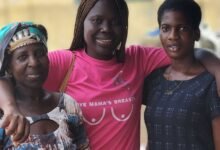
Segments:
[[[99,5],[101,3],[103,6],[102,8],[109,7],[109,9],[112,9],[112,5],[117,7],[117,10],[113,10],[108,13],[112,13],[112,16],[117,16],[120,20],[121,23],[121,34],[120,34],[120,42],[117,42],[120,47],[114,46],[115,49],[119,49],[119,51],[116,51],[115,55],[118,61],[123,61],[124,59],[124,49],[125,49],[125,44],[127,40],[127,33],[128,33],[128,7],[127,3],[125,0],[81,0],[78,11],[77,11],[77,16],[76,16],[76,21],[75,21],[75,28],[74,28],[74,38],[71,44],[70,49],[71,50],[77,50],[81,48],[87,48],[90,47],[91,45],[85,41],[85,36],[88,37],[89,35],[85,35],[84,31],[85,28],[89,29],[88,27],[84,26],[85,19],[87,15],[93,10],[95,5]],[[105,10],[106,12],[108,11]],[[101,19],[105,20],[106,16],[102,15],[100,16]],[[114,34],[114,33],[113,33]],[[109,36],[109,35],[108,35]],[[116,37],[118,38],[118,37]],[[115,39],[115,38],[114,38]],[[111,44],[115,45],[115,43]]]

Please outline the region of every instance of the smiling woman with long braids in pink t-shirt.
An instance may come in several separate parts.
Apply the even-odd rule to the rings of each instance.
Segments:
[[[82,108],[91,149],[139,149],[144,77],[169,60],[160,48],[125,48],[128,8],[124,0],[82,0],[76,18],[70,50],[48,54],[45,88],[59,90],[74,56],[65,92]],[[1,80],[0,105],[7,114],[3,126],[8,134],[16,131],[15,137],[22,141],[27,134],[23,117],[6,89],[10,89],[8,82]]]

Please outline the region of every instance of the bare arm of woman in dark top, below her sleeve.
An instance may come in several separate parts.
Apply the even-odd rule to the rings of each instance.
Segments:
[[[213,139],[215,150],[220,150],[220,117],[212,120]]]

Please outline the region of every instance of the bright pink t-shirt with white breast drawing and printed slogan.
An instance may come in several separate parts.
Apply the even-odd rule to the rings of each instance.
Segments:
[[[74,54],[66,93],[81,106],[91,149],[139,150],[142,86],[149,73],[170,62],[164,50],[130,46],[124,63],[97,60],[84,50]],[[59,89],[72,55],[68,50],[49,53],[48,90]]]

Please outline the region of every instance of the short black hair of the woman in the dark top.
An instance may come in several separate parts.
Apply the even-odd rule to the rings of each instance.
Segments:
[[[157,11],[157,21],[161,25],[161,18],[166,11],[179,11],[184,14],[193,29],[199,29],[202,18],[201,8],[194,0],[165,0]]]

